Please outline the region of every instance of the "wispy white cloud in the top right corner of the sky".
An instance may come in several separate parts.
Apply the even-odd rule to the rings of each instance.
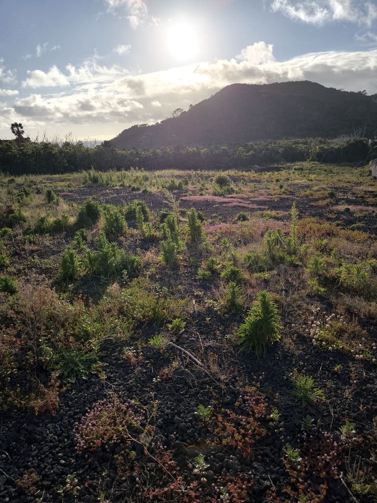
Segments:
[[[370,27],[377,19],[377,6],[362,0],[273,0],[271,8],[314,25],[347,21]]]

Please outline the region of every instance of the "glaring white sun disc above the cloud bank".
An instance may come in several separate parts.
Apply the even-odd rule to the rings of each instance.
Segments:
[[[190,59],[198,52],[198,34],[192,23],[173,23],[167,30],[167,45],[173,56]]]

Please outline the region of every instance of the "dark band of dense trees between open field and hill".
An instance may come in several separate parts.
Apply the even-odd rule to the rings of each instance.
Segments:
[[[258,143],[117,150],[109,141],[95,148],[83,143],[0,141],[0,170],[10,175],[74,171],[153,169],[230,169],[304,160],[363,162],[365,139],[282,140]]]

